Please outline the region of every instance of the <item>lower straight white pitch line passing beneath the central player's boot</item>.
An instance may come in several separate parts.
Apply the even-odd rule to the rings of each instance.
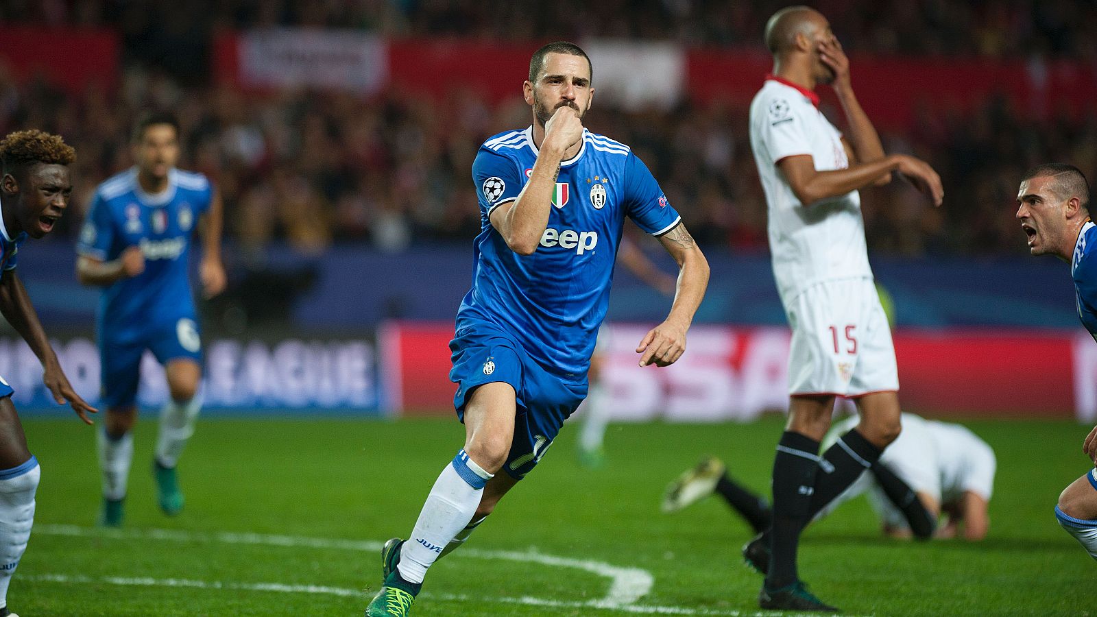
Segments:
[[[289,593],[289,594],[317,594],[317,595],[333,595],[340,597],[364,597],[365,594],[360,590],[349,590],[344,587],[328,587],[323,585],[287,585],[284,583],[234,583],[234,582],[222,582],[222,581],[194,581],[190,579],[151,579],[148,576],[86,576],[86,575],[69,575],[69,574],[31,574],[31,575],[20,575],[20,580],[23,581],[38,581],[45,583],[61,583],[61,584],[108,584],[108,585],[120,585],[127,587],[185,587],[192,590],[236,590],[236,591],[250,591],[250,592],[273,592],[273,593]],[[769,617],[769,616],[782,616],[787,617],[788,614],[784,613],[771,613],[771,612],[753,612],[743,613],[740,610],[716,610],[716,609],[705,609],[705,608],[685,608],[680,606],[606,606],[599,601],[591,602],[557,602],[552,599],[542,599],[536,597],[472,597],[459,594],[438,594],[431,592],[423,592],[420,597],[426,597],[433,601],[442,602],[484,602],[485,599],[489,602],[497,602],[500,604],[520,604],[523,606],[542,606],[546,608],[595,608],[595,609],[606,609],[606,610],[617,610],[623,613],[632,613],[638,615],[719,615],[722,617]]]

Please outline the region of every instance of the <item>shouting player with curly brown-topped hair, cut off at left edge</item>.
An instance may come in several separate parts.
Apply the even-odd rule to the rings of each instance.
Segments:
[[[12,133],[0,142],[0,313],[42,361],[43,381],[54,400],[68,401],[80,419],[91,424],[88,414],[97,410],[69,384],[15,273],[20,245],[52,232],[68,207],[68,166],[75,160],[76,150],[41,131]],[[41,475],[11,402],[13,392],[0,378],[0,617],[14,615],[8,610],[8,585],[31,537]]]

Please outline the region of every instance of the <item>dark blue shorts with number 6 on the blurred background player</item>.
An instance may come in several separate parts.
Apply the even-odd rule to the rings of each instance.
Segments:
[[[158,328],[150,328],[137,338],[113,339],[100,333],[99,361],[102,367],[100,405],[129,407],[137,402],[140,383],[140,359],[148,349],[157,361],[191,359],[202,363],[202,340],[194,319],[183,317]]]

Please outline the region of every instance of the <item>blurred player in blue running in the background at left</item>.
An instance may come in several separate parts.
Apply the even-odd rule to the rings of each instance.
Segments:
[[[95,329],[106,418],[98,445],[101,521],[112,527],[122,524],[146,349],[163,364],[170,391],[152,461],[157,497],[168,515],[183,507],[176,464],[201,408],[202,340],[188,276],[195,226],[204,240],[204,295],[225,287],[220,198],[205,176],[176,169],[179,122],[167,113],[145,116],[132,147],[136,165],[99,186],[77,248],[80,282],[104,288]]]

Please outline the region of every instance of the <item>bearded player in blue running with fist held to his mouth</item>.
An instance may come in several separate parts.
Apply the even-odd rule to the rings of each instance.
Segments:
[[[408,541],[385,543],[384,586],[366,615],[406,615],[427,569],[538,464],[586,396],[625,216],[680,268],[670,314],[636,347],[640,363],[665,367],[686,350],[708,262],[647,167],[584,128],[591,74],[572,43],[540,48],[523,85],[533,124],[489,138],[473,162],[482,232],[450,344],[464,448],[434,482]]]

